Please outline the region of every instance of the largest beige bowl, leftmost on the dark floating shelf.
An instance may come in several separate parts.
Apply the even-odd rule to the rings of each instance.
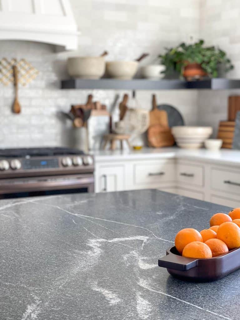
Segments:
[[[99,79],[104,75],[106,62],[104,57],[70,57],[68,74],[76,78]]]

